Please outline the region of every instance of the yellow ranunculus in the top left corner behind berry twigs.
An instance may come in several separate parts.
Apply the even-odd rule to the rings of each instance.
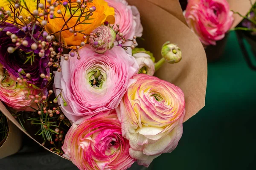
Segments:
[[[12,2],[12,1],[10,1],[10,2],[12,3],[12,5],[8,2],[8,0],[1,0],[0,6],[4,7],[4,10],[6,10],[6,11],[12,11],[11,8],[13,9],[12,6],[15,6],[15,3]],[[37,0],[26,0],[25,1],[26,6],[29,8],[29,11],[31,13],[33,13],[33,11],[36,9],[36,2],[37,2]],[[40,2],[44,2],[44,0],[40,0]],[[25,8],[22,8],[22,6],[25,7],[25,4],[24,4],[23,0],[20,0],[20,4],[21,4],[21,6],[20,6],[20,13],[18,13],[18,15],[22,16],[23,20],[27,23],[27,22],[29,22],[27,20],[27,18],[28,17],[32,17],[32,15]],[[21,10],[21,8],[22,8],[22,10]],[[17,12],[18,11],[16,10],[15,13],[17,13]],[[13,16],[14,16],[14,14],[12,13],[11,15],[12,15],[12,17],[9,17],[6,22],[13,23]],[[17,19],[17,23],[19,23],[21,25],[24,25],[19,19]]]

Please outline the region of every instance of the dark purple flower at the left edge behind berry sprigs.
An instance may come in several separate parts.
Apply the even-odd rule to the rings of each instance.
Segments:
[[[38,55],[42,48],[38,47],[36,50],[31,49],[31,45],[36,43],[35,40],[47,42],[47,40],[45,40],[45,38],[40,35],[41,27],[24,26],[23,28],[17,28],[17,26],[13,24],[1,23],[0,28],[3,29],[0,31],[0,63],[10,74],[17,78],[20,76],[26,78],[26,74],[29,73],[30,79],[28,79],[27,82],[32,83],[40,88],[44,88],[47,85],[48,80],[46,78],[41,78],[40,75],[45,74],[49,76],[49,47],[44,49],[45,51],[43,57],[39,57]],[[32,31],[33,29],[34,31]],[[7,31],[15,34],[17,38],[20,38],[20,40],[26,40],[28,45],[17,46],[17,49],[12,54],[8,53],[7,48],[15,48],[17,42],[12,42],[12,36],[7,35]],[[28,59],[27,57],[29,56],[34,57],[32,65],[30,60],[26,62]]]

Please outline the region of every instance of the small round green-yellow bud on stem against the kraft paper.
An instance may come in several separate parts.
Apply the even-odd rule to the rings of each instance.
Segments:
[[[181,51],[180,48],[167,41],[164,43],[161,51],[162,57],[166,59],[166,62],[169,62],[171,64],[180,62],[181,60]]]

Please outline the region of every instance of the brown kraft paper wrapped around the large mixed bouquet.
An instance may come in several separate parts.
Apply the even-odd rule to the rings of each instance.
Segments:
[[[144,47],[146,50],[153,52],[156,59],[159,60],[161,58],[161,48],[164,42],[171,41],[179,45],[183,59],[174,65],[165,63],[163,67],[156,72],[155,76],[172,82],[183,90],[186,99],[185,122],[204,107],[207,84],[207,59],[205,51],[195,34],[193,34],[183,22],[150,1],[151,0],[128,0],[130,5],[137,6],[141,14],[144,28],[143,38],[145,41],[140,42],[140,47]],[[179,6],[178,1],[173,1],[173,6]],[[180,14],[182,14],[181,10],[177,15],[180,16]],[[19,127],[20,130],[32,138],[23,130],[21,125],[11,113],[7,111],[2,103],[0,103],[0,110],[11,122]],[[47,149],[46,147],[44,148]]]

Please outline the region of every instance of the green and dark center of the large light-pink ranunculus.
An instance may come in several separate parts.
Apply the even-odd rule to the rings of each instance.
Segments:
[[[93,88],[101,88],[103,82],[105,81],[105,77],[102,75],[101,71],[99,71],[99,69],[94,69],[89,73],[89,75],[90,85]]]

